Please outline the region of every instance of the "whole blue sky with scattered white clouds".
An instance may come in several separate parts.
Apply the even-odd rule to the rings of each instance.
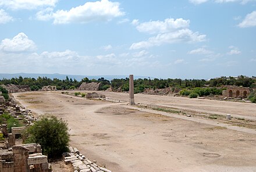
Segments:
[[[0,0],[0,73],[256,76],[256,0]]]

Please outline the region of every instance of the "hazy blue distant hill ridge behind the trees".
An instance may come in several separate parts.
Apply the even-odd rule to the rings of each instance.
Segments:
[[[112,75],[102,75],[102,76],[83,76],[83,75],[72,75],[72,74],[58,74],[58,73],[54,73],[54,74],[39,74],[39,73],[0,73],[0,80],[2,80],[3,78],[6,79],[11,79],[11,78],[18,78],[19,76],[24,77],[28,77],[28,78],[38,78],[38,77],[47,77],[47,78],[58,78],[60,80],[65,80],[66,76],[72,79],[76,79],[77,81],[81,81],[81,79],[87,77],[88,79],[95,79],[98,80],[98,78],[104,77],[105,80],[109,80],[111,81],[113,78],[126,78],[129,77],[129,75],[116,75],[116,76],[112,76]],[[134,76],[134,79],[138,79],[138,78],[148,78],[147,76]],[[154,78],[154,77],[150,77],[150,78]]]

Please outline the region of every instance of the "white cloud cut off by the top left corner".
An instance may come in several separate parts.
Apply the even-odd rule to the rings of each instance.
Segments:
[[[0,6],[5,6],[8,9],[37,9],[43,6],[54,7],[58,0],[1,0]]]

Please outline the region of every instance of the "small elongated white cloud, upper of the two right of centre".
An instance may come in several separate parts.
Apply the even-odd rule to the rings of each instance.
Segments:
[[[169,33],[180,28],[189,27],[190,20],[180,19],[165,19],[164,21],[150,21],[139,24],[136,28],[140,32],[155,34],[155,33]]]

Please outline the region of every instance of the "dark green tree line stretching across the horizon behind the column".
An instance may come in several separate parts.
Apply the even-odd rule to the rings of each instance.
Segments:
[[[112,88],[113,91],[129,91],[129,78],[118,79],[115,78],[111,81],[105,80],[105,78],[101,77],[98,80],[91,79],[89,80],[87,77],[83,78],[81,81],[77,81],[75,78],[69,78],[66,76],[66,79],[60,80],[58,78],[47,78],[47,77],[38,77],[36,78],[11,78],[6,79],[3,78],[0,80],[0,84],[15,84],[15,85],[29,85],[32,91],[37,91],[41,89],[43,86],[47,85],[55,85],[57,89],[76,89],[82,83],[101,83],[100,90]],[[225,85],[236,85],[243,87],[256,88],[256,77],[246,77],[246,76],[238,76],[238,77],[219,77],[212,78],[211,80],[195,80],[195,79],[185,79],[182,80],[180,78],[175,79],[158,79],[154,78],[139,78],[134,80],[134,92],[143,92],[145,88],[151,89],[160,89],[160,88],[175,88],[180,89],[193,89],[200,87],[225,87]]]

